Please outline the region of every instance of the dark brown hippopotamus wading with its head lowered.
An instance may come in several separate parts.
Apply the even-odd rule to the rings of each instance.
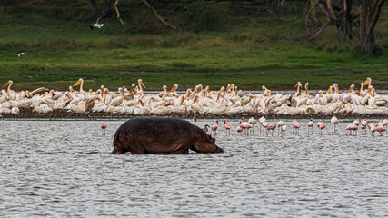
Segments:
[[[138,117],[126,121],[114,134],[113,154],[223,153],[203,129],[178,118]]]

